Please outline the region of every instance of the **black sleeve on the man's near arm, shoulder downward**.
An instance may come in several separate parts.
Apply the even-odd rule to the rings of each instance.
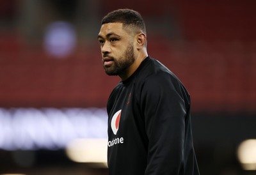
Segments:
[[[141,93],[148,136],[145,175],[179,174],[183,169],[186,107],[179,81],[173,77],[152,77]]]

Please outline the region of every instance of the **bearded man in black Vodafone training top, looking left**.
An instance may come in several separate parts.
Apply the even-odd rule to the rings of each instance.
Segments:
[[[112,11],[102,19],[98,40],[105,72],[122,79],[107,105],[109,174],[199,174],[189,94],[148,56],[140,13]]]

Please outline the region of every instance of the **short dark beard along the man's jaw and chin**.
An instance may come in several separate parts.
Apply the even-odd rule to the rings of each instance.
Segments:
[[[127,71],[127,68],[132,65],[135,61],[134,57],[134,47],[130,43],[127,49],[124,52],[123,56],[120,56],[118,59],[111,57],[113,59],[113,65],[104,66],[104,70],[108,75],[120,75],[124,74]]]

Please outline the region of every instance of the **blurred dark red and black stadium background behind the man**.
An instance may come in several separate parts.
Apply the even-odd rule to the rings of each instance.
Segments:
[[[100,20],[111,10],[132,8],[145,19],[148,54],[170,68],[191,95],[201,174],[256,174],[244,170],[237,157],[242,141],[256,139],[255,6],[249,0],[3,0],[0,117],[14,118],[18,109],[104,110],[119,78],[102,69]],[[31,154],[30,163],[17,162],[17,155],[22,162]],[[72,162],[64,149],[1,148],[0,164],[0,174],[107,173]]]

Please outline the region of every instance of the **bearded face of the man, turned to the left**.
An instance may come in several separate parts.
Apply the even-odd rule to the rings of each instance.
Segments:
[[[125,75],[134,63],[133,38],[122,23],[103,24],[98,36],[102,61],[108,75]]]

